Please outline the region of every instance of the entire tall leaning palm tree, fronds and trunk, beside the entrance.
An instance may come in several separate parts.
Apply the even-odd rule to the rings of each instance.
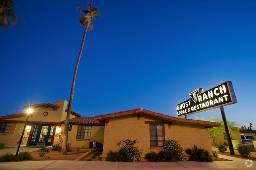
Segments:
[[[85,30],[84,30],[84,36],[83,36],[82,44],[81,44],[80,51],[78,54],[78,58],[76,61],[76,67],[75,67],[72,87],[71,87],[71,91],[70,91],[70,98],[69,98],[68,111],[67,111],[67,116],[66,116],[66,121],[65,121],[64,138],[63,138],[63,146],[62,146],[61,154],[67,153],[69,118],[70,118],[70,113],[71,113],[71,108],[72,108],[72,103],[73,103],[73,97],[74,97],[76,74],[78,71],[79,61],[80,61],[82,51],[84,48],[84,41],[85,41],[86,33],[87,33],[88,28],[89,28],[89,30],[92,30],[92,28],[93,28],[93,21],[92,21],[93,18],[99,17],[98,8],[92,6],[92,4],[90,2],[88,2],[88,8],[89,8],[88,10],[85,10],[84,8],[78,7],[78,10],[80,12],[82,12],[83,14],[85,14],[84,16],[82,16],[79,19],[80,24],[85,27]]]

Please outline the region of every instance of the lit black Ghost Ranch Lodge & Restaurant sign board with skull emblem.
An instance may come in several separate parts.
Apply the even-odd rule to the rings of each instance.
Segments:
[[[231,81],[226,81],[203,93],[202,89],[197,89],[189,95],[191,99],[177,105],[178,117],[237,103]]]

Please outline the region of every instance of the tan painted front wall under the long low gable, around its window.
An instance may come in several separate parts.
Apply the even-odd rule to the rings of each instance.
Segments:
[[[140,149],[143,149],[142,159],[145,154],[150,151],[159,152],[159,149],[150,149],[149,124],[145,121],[163,121],[154,117],[137,115],[110,119],[105,125],[104,148],[102,160],[105,160],[109,150],[119,150],[118,141],[136,139],[139,142],[136,144]],[[179,144],[184,148],[192,148],[196,144],[199,148],[206,148],[212,153],[210,137],[208,129],[202,126],[178,124],[164,125],[165,138],[180,140]]]

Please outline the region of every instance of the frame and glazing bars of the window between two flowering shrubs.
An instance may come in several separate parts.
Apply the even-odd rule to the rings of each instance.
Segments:
[[[155,126],[156,128],[153,129],[155,130],[155,134],[150,134],[152,129],[150,129],[150,126]],[[158,126],[162,126],[162,134],[158,134]],[[151,136],[155,136],[156,140],[151,140]],[[158,140],[158,137],[162,137],[162,140]],[[163,147],[164,140],[165,140],[165,130],[164,130],[164,124],[149,124],[149,145],[150,147]],[[151,145],[152,141],[156,141],[156,145]],[[159,142],[162,141],[162,145],[159,145]]]

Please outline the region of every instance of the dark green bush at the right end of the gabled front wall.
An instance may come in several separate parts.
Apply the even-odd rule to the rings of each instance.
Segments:
[[[189,154],[189,161],[198,161],[198,162],[212,162],[212,156],[210,155],[210,152],[208,150],[198,148],[196,145],[194,145],[194,148],[186,149],[185,152]]]

